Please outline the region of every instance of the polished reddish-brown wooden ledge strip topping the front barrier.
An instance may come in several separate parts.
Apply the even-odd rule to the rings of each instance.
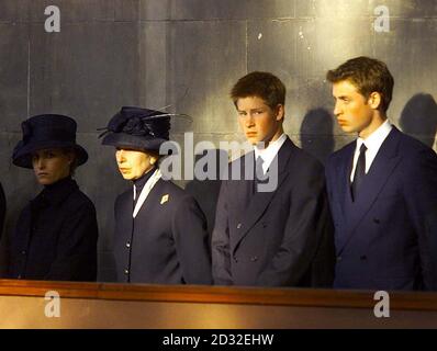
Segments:
[[[296,307],[373,308],[374,292],[313,288],[265,288],[202,285],[147,285],[0,280],[0,295],[111,301],[242,304]],[[392,292],[391,309],[437,310],[437,293]]]

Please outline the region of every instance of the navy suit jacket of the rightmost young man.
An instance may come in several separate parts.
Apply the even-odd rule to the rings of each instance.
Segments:
[[[335,223],[335,287],[436,288],[437,252],[426,219],[437,205],[437,156],[393,127],[354,203],[356,143],[333,154],[326,178]]]

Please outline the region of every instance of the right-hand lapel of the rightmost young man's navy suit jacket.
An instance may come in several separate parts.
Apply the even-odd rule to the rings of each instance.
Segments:
[[[363,191],[357,197],[355,203],[351,203],[352,207],[347,211],[348,216],[346,218],[346,237],[341,246],[338,248],[339,252],[345,248],[347,242],[350,240],[356,228],[370,211],[372,205],[378,199],[378,195],[386,184],[390,176],[393,173],[395,167],[401,160],[397,155],[400,132],[393,126],[393,129],[388,135],[386,139],[382,143],[377,157],[374,158],[372,166],[367,173],[362,183]],[[350,174],[347,174],[348,177]],[[350,195],[349,195],[350,196]]]

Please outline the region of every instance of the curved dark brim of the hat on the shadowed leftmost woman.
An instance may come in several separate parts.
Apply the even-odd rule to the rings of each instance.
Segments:
[[[43,143],[30,143],[23,147],[18,148],[18,151],[12,156],[12,163],[22,167],[33,169],[32,154],[42,149],[52,148],[71,148],[76,151],[77,166],[81,166],[88,160],[88,152],[83,147],[78,144],[65,143],[65,141],[43,141]]]

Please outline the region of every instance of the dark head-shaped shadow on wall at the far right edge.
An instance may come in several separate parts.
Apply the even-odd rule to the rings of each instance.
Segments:
[[[432,94],[417,93],[408,100],[401,113],[402,131],[429,147],[437,133],[437,104]]]

